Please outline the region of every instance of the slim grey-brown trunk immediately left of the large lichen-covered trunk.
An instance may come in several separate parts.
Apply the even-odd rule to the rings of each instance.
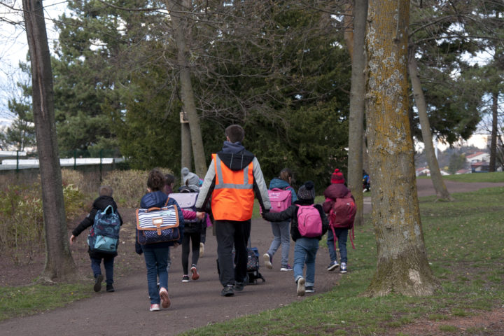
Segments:
[[[363,222],[363,130],[365,109],[365,24],[367,0],[355,0],[353,5],[353,50],[349,118],[349,188],[356,200],[355,225]]]

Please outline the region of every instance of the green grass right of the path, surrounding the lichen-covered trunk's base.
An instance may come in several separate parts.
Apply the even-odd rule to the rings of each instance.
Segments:
[[[496,309],[504,300],[502,195],[504,188],[488,188],[455,194],[455,202],[420,199],[428,259],[442,285],[433,296],[360,295],[376,267],[374,230],[366,218],[356,228],[356,250],[349,250],[351,272],[330,292],[183,335],[383,335],[417,318],[446,321]],[[452,325],[440,330],[458,332]]]

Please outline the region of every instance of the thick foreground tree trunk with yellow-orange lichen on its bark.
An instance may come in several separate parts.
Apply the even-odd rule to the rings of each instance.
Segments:
[[[408,119],[408,0],[370,0],[366,94],[377,270],[365,295],[431,295]]]

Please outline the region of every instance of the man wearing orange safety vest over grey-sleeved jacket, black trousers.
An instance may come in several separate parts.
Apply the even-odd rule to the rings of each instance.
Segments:
[[[232,296],[244,289],[246,282],[247,243],[251,231],[254,196],[264,211],[271,205],[259,161],[241,144],[245,137],[240,125],[225,130],[223,150],[212,155],[212,161],[196,201],[197,217],[211,202],[215,219],[221,295]],[[236,266],[232,258],[235,247]]]

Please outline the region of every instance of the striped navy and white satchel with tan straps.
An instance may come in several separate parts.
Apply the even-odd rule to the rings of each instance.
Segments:
[[[137,209],[137,241],[140,245],[179,240],[179,209],[175,204],[162,208]]]

